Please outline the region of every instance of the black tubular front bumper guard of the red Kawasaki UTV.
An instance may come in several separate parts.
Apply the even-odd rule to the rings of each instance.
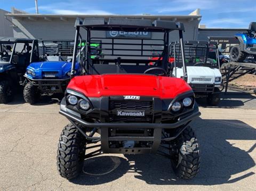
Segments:
[[[66,108],[66,107],[65,107]],[[71,123],[76,126],[76,128],[85,136],[89,141],[100,140],[101,141],[101,152],[103,153],[119,153],[119,154],[146,154],[146,153],[157,153],[158,147],[162,142],[169,142],[177,138],[181,132],[187,128],[191,120],[197,118],[201,113],[198,111],[198,106],[195,104],[194,110],[190,113],[187,113],[186,116],[180,117],[177,122],[174,123],[121,123],[121,122],[99,122],[92,123],[87,122],[76,114],[72,114],[72,110],[60,110],[60,114],[67,117]],[[78,126],[77,124],[81,124]],[[100,132],[100,137],[90,137],[84,131],[85,128],[97,128]],[[112,131],[118,129],[130,129],[136,131],[138,129],[144,129],[146,132],[150,130],[151,135],[112,135]],[[174,134],[169,137],[162,136],[162,129],[173,129]],[[118,147],[112,148],[111,143],[120,143],[120,142],[148,142],[150,143],[149,147]]]

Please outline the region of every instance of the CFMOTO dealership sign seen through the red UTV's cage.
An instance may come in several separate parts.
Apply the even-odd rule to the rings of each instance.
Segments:
[[[151,38],[151,32],[147,31],[106,31],[107,38]]]

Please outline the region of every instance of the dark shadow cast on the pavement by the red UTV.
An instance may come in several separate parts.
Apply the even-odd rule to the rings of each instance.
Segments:
[[[230,143],[230,140],[233,142],[234,140],[255,141],[256,130],[254,128],[239,120],[203,120],[200,118],[191,126],[196,131],[202,153],[201,169],[196,178],[192,180],[177,179],[168,159],[156,155],[125,155],[127,160],[118,157],[120,163],[113,171],[102,176],[83,174],[73,182],[79,185],[99,185],[114,181],[125,173],[134,173],[134,178],[154,185],[219,185],[255,176],[254,172],[250,171],[255,163],[249,153],[255,150],[256,143],[247,151],[242,149],[243,145],[240,148],[241,145]],[[85,162],[84,169],[90,173],[99,174],[104,168],[107,169],[106,172],[113,168],[110,156],[100,157],[87,159],[91,161]],[[247,172],[242,176],[236,175],[244,171]]]

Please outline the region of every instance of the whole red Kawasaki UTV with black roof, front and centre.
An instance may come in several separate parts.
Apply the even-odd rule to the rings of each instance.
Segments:
[[[60,175],[75,178],[82,171],[84,159],[101,153],[153,153],[170,159],[178,177],[195,177],[200,153],[189,123],[200,112],[193,90],[185,81],[183,24],[162,20],[90,18],[77,19],[75,26],[70,74],[73,78],[60,105],[60,114],[70,121],[59,139],[57,167]],[[77,42],[83,29],[87,34],[86,52],[80,62],[84,63],[85,73],[74,77]],[[152,36],[159,34],[161,39],[99,37],[96,36],[99,31],[105,35],[106,31],[152,32]],[[185,80],[170,77],[171,31],[177,31],[180,37]],[[104,57],[93,60],[90,43],[99,39]],[[150,55],[152,45],[162,47],[157,60],[148,59],[153,57]],[[150,65],[150,62],[154,64]],[[98,150],[90,152],[91,148]]]

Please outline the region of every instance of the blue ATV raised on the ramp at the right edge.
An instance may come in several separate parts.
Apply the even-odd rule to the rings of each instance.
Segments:
[[[247,57],[256,60],[256,22],[251,22],[246,33],[236,34],[239,45],[230,49],[230,60],[233,62],[243,62]]]

